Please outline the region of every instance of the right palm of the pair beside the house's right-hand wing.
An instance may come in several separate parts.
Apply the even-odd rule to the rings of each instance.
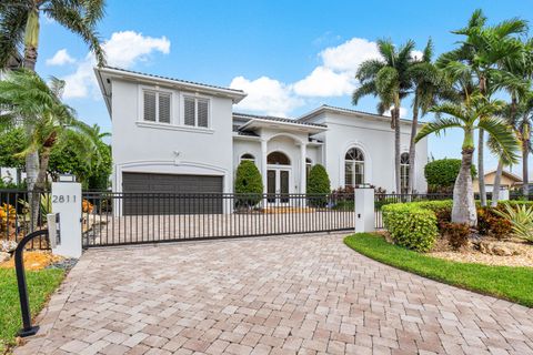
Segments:
[[[425,115],[440,100],[453,100],[456,94],[447,78],[432,63],[433,42],[430,39],[425,45],[422,58],[411,67],[413,80],[413,120],[411,123],[411,139],[409,144],[409,183],[408,194],[414,190],[414,169],[416,162],[415,138],[419,126],[419,114]]]

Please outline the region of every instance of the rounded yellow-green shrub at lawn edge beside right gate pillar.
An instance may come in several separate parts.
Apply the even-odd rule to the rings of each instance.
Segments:
[[[383,223],[398,245],[428,252],[439,235],[433,211],[418,203],[395,203],[383,206]]]

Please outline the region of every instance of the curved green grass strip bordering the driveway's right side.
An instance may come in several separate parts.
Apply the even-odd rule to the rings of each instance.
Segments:
[[[445,261],[390,244],[382,236],[369,233],[346,236],[344,243],[354,251],[384,264],[533,307],[533,268],[531,267],[489,266]]]

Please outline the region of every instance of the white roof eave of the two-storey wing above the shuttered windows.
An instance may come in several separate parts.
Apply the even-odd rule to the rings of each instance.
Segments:
[[[194,91],[194,92],[212,94],[217,97],[224,97],[224,98],[232,99],[233,103],[238,103],[247,97],[247,93],[242,90],[203,84],[194,81],[180,80],[180,79],[162,77],[162,75],[147,74],[147,73],[141,73],[133,70],[125,70],[125,69],[120,69],[114,67],[94,68],[94,73],[97,75],[100,90],[102,91],[102,95],[105,100],[105,104],[108,105],[108,111],[110,113],[111,113],[110,78],[133,80],[138,82],[144,82],[147,84],[159,83],[168,87],[175,87],[181,90]]]

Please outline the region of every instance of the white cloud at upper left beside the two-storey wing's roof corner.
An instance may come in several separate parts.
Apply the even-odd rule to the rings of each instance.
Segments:
[[[163,54],[170,52],[170,41],[164,36],[152,38],[134,31],[114,32],[102,47],[105,50],[108,64],[122,69],[130,69],[140,61],[149,60],[153,52]],[[86,98],[90,94],[99,97],[98,83],[92,70],[94,64],[94,55],[88,53],[78,62],[76,72],[63,78],[66,99]]]

